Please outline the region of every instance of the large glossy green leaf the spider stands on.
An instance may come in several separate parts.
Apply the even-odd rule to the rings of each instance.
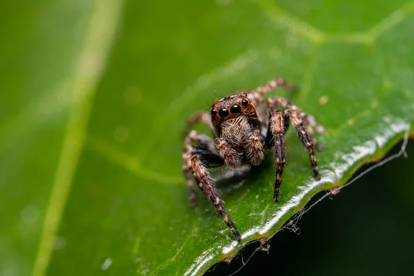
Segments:
[[[412,1],[26,2],[0,4],[1,275],[201,274],[414,133]],[[237,244],[188,205],[181,130],[274,77],[326,129],[322,180],[291,128],[279,202],[271,154],[219,184]]]

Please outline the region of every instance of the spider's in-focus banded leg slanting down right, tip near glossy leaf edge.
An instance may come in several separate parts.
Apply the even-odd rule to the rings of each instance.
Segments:
[[[319,172],[317,170],[317,163],[316,163],[316,157],[315,157],[315,151],[313,150],[313,143],[311,137],[309,137],[308,133],[306,132],[306,128],[304,128],[304,124],[302,121],[302,118],[299,116],[298,112],[296,110],[286,109],[284,111],[284,117],[286,119],[290,119],[292,121],[293,126],[295,126],[295,129],[297,131],[297,134],[300,137],[300,140],[302,141],[302,144],[308,150],[309,155],[309,161],[311,161],[311,165],[313,168],[313,175],[315,176],[315,179],[321,179],[319,177]]]

